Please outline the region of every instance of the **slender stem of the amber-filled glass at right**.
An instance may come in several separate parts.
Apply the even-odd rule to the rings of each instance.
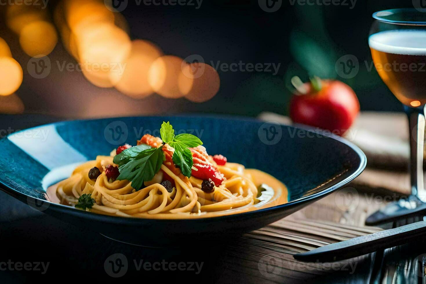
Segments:
[[[423,184],[423,144],[425,131],[424,107],[404,106],[409,120],[410,130],[410,181],[412,195],[426,202],[426,190]]]

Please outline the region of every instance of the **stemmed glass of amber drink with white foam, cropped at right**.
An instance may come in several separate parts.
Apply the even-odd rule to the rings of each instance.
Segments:
[[[405,219],[426,210],[423,143],[426,104],[426,13],[390,9],[373,14],[368,45],[383,82],[404,104],[410,129],[411,195],[367,218],[366,224]]]

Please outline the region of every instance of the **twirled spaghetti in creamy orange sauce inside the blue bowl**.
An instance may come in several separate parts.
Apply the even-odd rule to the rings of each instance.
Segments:
[[[152,139],[152,137],[150,137]],[[148,141],[141,139],[141,141]],[[152,141],[152,140],[151,140]],[[138,141],[140,143],[140,141]],[[152,143],[152,142],[151,142]],[[153,148],[164,147],[164,143]],[[198,146],[197,153],[205,152],[205,148]],[[173,148],[168,146],[164,151]],[[192,150],[192,149],[191,149]],[[173,156],[173,153],[171,153]],[[88,161],[78,166],[72,175],[51,186],[48,196],[54,195],[61,204],[75,206],[83,195],[89,196],[92,204],[85,209],[94,213],[135,218],[199,218],[218,215],[227,215],[258,209],[256,204],[262,201],[258,196],[259,182],[270,181],[274,186],[270,193],[269,206],[285,203],[287,196],[285,186],[270,175],[258,170],[245,169],[241,164],[223,163],[218,165],[213,157],[208,156],[203,163],[215,169],[216,178],[221,178],[221,184],[213,184],[191,175],[184,176],[180,169],[167,159],[161,163],[159,171],[151,181],[144,181],[141,189],[132,187],[129,180],[108,178],[107,168],[115,166],[115,151],[110,156],[97,156],[96,160]],[[194,161],[196,154],[194,155]],[[91,170],[99,169],[99,175],[91,178]],[[199,169],[202,169],[201,167]],[[196,168],[193,166],[193,172]],[[164,181],[169,181],[164,183]],[[210,183],[210,184],[209,184]],[[170,186],[172,185],[172,186]],[[168,187],[168,188],[166,188]],[[259,197],[259,198],[258,198]],[[264,200],[265,201],[265,200]],[[266,203],[266,202],[263,202]]]

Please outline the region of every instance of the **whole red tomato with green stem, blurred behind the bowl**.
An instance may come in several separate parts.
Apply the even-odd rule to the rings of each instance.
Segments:
[[[301,87],[301,88],[300,88]],[[343,135],[360,112],[360,102],[354,90],[335,80],[304,83],[290,101],[290,117],[294,123],[327,129]]]

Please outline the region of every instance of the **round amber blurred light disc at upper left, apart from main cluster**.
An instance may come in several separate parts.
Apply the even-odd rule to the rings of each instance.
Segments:
[[[29,23],[20,32],[19,43],[23,51],[31,57],[49,55],[57,42],[55,27],[46,21]]]

